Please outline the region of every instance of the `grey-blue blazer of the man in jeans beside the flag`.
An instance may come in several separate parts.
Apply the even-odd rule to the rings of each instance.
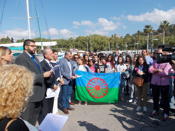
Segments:
[[[64,80],[64,85],[68,85],[71,82],[71,76],[74,75],[73,74],[73,66],[72,66],[71,61],[70,61],[70,64],[71,64],[72,74],[70,74],[70,68],[68,66],[66,58],[62,58],[59,61],[60,72],[61,72],[61,75],[62,75],[63,80]]]

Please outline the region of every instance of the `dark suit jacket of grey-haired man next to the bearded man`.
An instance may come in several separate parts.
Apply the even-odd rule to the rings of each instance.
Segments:
[[[50,71],[52,69],[52,67],[49,66],[49,64],[47,63],[45,59],[41,61],[41,67],[44,72]],[[53,88],[55,81],[56,81],[56,78],[54,74],[52,74],[50,77],[44,78],[46,89]]]

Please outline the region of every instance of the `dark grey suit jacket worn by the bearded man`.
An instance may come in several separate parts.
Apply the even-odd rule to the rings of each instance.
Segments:
[[[45,96],[45,87],[44,87],[44,78],[43,78],[42,68],[37,58],[36,58],[36,61],[39,64],[40,70],[38,69],[36,64],[32,61],[32,59],[26,52],[23,52],[15,60],[16,64],[25,66],[27,69],[29,69],[31,72],[35,74],[33,95],[29,98],[29,102],[42,101]]]

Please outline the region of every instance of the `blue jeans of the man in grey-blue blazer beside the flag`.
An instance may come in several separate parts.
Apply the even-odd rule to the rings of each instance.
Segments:
[[[62,85],[58,98],[58,108],[60,108],[61,110],[69,108],[69,99],[71,98],[71,95],[72,85]]]

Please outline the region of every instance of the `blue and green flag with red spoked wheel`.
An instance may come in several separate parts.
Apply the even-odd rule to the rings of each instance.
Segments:
[[[75,98],[79,101],[116,103],[119,96],[120,73],[77,71]]]

